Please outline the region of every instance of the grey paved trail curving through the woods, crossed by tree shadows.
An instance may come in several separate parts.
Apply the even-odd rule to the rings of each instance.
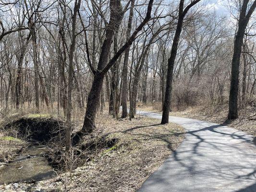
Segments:
[[[138,111],[161,119],[161,114]],[[138,192],[256,192],[253,136],[216,123],[169,117],[186,130],[177,151]]]

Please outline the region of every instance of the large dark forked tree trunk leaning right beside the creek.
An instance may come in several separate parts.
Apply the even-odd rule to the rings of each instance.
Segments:
[[[87,100],[87,107],[85,112],[85,120],[82,133],[93,131],[95,127],[95,116],[98,108],[98,102],[100,98],[100,92],[102,89],[104,76],[113,66],[113,64],[118,60],[118,58],[122,55],[122,53],[132,44],[137,34],[142,30],[143,26],[149,21],[149,19],[151,18],[150,14],[152,10],[152,5],[153,0],[149,0],[146,18],[134,30],[134,33],[132,34],[132,36],[130,36],[130,38],[128,39],[128,41],[126,41],[122,48],[120,48],[117,51],[117,53],[112,57],[112,59],[110,59],[110,61],[108,62],[112,37],[114,35],[114,32],[119,28],[124,14],[124,12],[122,11],[122,5],[120,0],[110,1],[110,22],[105,30],[106,35],[101,47],[98,68],[97,70],[95,70],[92,66],[90,66],[94,73],[94,80]]]

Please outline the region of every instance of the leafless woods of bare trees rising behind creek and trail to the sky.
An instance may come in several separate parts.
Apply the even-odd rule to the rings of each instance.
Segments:
[[[132,120],[151,105],[165,124],[170,111],[229,102],[227,118],[237,119],[256,102],[255,7],[230,0],[224,14],[206,0],[4,0],[1,116],[58,114],[67,151],[103,110]]]

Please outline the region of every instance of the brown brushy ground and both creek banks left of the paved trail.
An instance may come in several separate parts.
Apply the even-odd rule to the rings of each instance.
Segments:
[[[95,131],[73,146],[73,153],[67,158],[63,138],[65,123],[61,118],[30,114],[8,120],[4,121],[5,131],[1,134],[20,138],[21,142],[36,142],[33,132],[36,133],[37,142],[48,146],[47,157],[58,176],[34,183],[19,182],[17,188],[13,183],[1,185],[2,191],[134,192],[178,147],[184,132],[176,124],[160,125],[159,120],[141,116],[132,121],[115,120],[103,111],[98,114]],[[82,122],[82,119],[73,121],[73,132],[82,127]],[[45,135],[43,140],[40,135]]]

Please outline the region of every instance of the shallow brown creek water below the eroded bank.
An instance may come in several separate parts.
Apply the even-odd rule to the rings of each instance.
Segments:
[[[30,144],[19,156],[0,169],[0,184],[32,182],[54,177],[56,173],[43,156],[47,152],[46,146]]]

